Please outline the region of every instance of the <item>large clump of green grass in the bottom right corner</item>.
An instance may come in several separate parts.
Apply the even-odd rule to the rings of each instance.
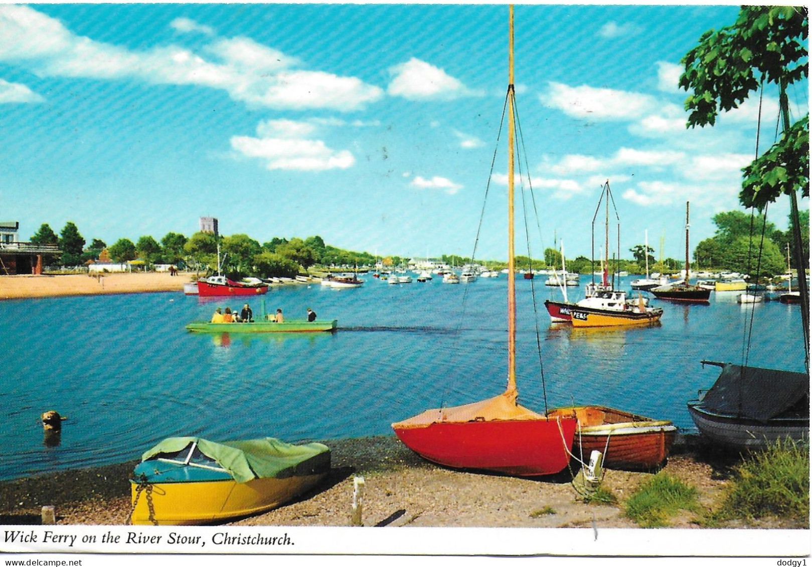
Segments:
[[[786,440],[736,466],[719,519],[791,518],[809,527],[810,451]]]

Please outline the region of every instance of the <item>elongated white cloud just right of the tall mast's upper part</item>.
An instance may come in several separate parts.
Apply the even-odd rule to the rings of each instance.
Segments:
[[[639,118],[641,114],[659,107],[654,97],[637,92],[587,85],[570,87],[555,82],[549,84],[546,94],[540,99],[542,104],[561,110],[569,116],[596,120]]]

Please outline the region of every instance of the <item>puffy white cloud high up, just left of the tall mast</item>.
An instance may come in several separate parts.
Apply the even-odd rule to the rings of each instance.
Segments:
[[[417,58],[390,67],[389,72],[393,79],[387,92],[393,97],[410,101],[450,101],[473,94],[459,79]]]

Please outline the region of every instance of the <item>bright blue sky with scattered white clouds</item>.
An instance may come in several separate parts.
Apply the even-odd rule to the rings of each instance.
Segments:
[[[715,213],[745,210],[758,97],[687,129],[677,86],[680,58],[737,13],[516,6],[517,200],[539,214],[526,238],[518,213],[517,253],[597,254],[607,180],[626,258],[647,232],[680,259],[686,201],[692,250]],[[0,220],[23,241],[73,221],[112,244],[210,216],[260,243],[503,260],[507,85],[507,5],[0,4]],[[777,117],[768,90],[762,152]],[[786,201],[769,209],[783,230]]]

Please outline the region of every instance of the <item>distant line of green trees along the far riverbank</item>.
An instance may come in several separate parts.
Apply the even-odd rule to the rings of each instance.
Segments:
[[[761,214],[729,211],[718,213],[713,218],[717,227],[712,238],[702,240],[693,250],[692,271],[729,270],[748,273],[753,276],[772,276],[786,271],[786,247],[793,248],[790,230],[776,230],[775,225],[765,220]],[[805,258],[809,251],[809,211],[801,211],[801,231]],[[219,242],[218,242],[219,240]],[[343,250],[326,244],[320,236],[308,238],[271,238],[270,242],[259,243],[248,234],[231,234],[215,238],[214,234],[196,232],[187,238],[184,234],[167,233],[160,242],[152,236],[142,236],[133,243],[128,238],[119,238],[108,246],[100,238],[87,243],[76,224],[68,221],[63,230],[56,234],[48,224],[40,226],[30,241],[39,244],[55,244],[62,251],[59,256],[46,257],[45,264],[67,267],[83,266],[93,261],[123,263],[142,260],[145,264],[175,264],[196,269],[205,273],[218,270],[218,244],[220,251],[219,270],[232,277],[258,275],[260,277],[294,277],[309,268],[372,267],[379,262],[387,267],[405,266],[410,258],[404,256],[374,256],[369,252]],[[676,273],[685,266],[684,261],[666,258],[657,261],[652,256],[654,248],[637,244],[629,248],[633,259],[624,260],[610,254],[610,272],[627,271],[644,273],[646,256],[650,272]],[[438,260],[450,266],[461,267],[476,262],[490,269],[507,267],[504,260],[479,260],[464,256],[443,255]],[[537,270],[561,267],[561,253],[554,248],[544,251],[543,259],[516,256],[517,270]],[[600,269],[601,260],[590,260],[577,256],[566,260],[568,272],[591,273]],[[807,268],[808,266],[804,266]],[[797,268],[793,264],[793,268]]]

